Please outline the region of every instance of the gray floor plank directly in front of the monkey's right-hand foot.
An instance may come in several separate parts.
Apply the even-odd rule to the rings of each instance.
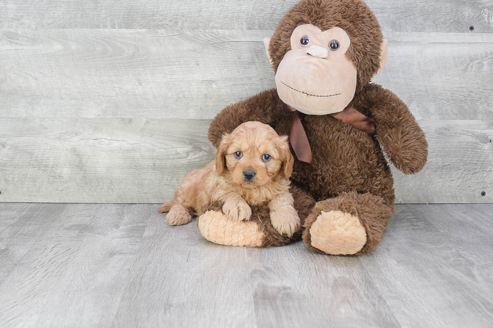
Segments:
[[[399,326],[357,257],[327,257],[301,242],[248,255],[258,327]]]

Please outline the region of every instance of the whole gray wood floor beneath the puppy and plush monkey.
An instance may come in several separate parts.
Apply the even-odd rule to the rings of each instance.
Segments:
[[[397,205],[379,248],[219,246],[152,204],[0,204],[1,327],[486,327],[493,204]]]

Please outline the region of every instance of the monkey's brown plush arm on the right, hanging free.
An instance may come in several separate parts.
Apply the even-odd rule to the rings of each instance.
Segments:
[[[368,91],[373,97],[370,113],[375,120],[375,137],[398,170],[404,174],[418,173],[428,157],[425,133],[393,92],[380,85],[373,85]]]

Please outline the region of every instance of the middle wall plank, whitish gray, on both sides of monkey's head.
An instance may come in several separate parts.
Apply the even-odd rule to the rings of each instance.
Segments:
[[[0,30],[0,117],[212,119],[275,87],[272,31]],[[386,33],[374,80],[418,119],[490,120],[493,34]]]

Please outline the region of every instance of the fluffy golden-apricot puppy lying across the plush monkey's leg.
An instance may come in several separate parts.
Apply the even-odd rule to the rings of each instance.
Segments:
[[[169,225],[185,225],[203,214],[208,202],[220,201],[225,215],[241,221],[250,220],[249,204],[267,202],[274,229],[291,237],[300,218],[289,193],[294,159],[287,140],[266,124],[243,123],[222,137],[216,159],[185,176],[175,198],[157,211],[169,212]]]

